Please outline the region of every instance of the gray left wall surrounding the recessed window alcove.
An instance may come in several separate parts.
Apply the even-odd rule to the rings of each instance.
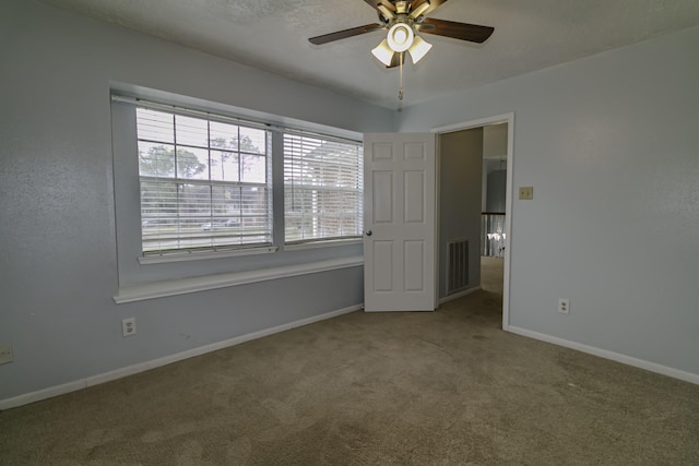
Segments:
[[[363,302],[352,267],[115,304],[110,83],[359,133],[392,111],[32,0],[0,2],[0,401]]]

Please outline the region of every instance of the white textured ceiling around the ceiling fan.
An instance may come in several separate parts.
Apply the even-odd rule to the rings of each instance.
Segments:
[[[377,105],[398,108],[398,69],[370,53],[382,32],[363,0],[42,0]],[[403,106],[699,25],[699,0],[450,0],[430,17],[495,27],[483,45],[434,35],[404,69]]]

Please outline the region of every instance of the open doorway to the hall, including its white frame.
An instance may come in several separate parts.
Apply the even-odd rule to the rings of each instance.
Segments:
[[[509,214],[512,203],[513,126],[514,115],[507,113],[433,130],[438,135],[437,192],[441,194],[438,202],[439,212],[437,215],[437,225],[439,229],[437,237],[440,239],[441,250],[438,273],[440,276],[440,296],[443,297],[440,301],[443,302],[458,298],[465,294],[482,289],[483,287],[495,288],[496,290],[499,288],[501,289],[502,295],[503,330],[507,330],[509,326],[509,271],[511,256],[511,228]],[[470,224],[470,227],[464,227],[465,229],[462,228],[461,231],[454,230],[451,226],[452,222],[450,217],[453,215],[453,208],[451,205],[454,204],[454,195],[445,195],[447,192],[450,192],[449,187],[454,186],[454,172],[451,168],[447,169],[447,167],[441,166],[442,155],[447,154],[447,151],[450,150],[449,146],[455,143],[465,145],[471,144],[475,147],[477,147],[478,144],[481,145],[477,165],[475,162],[472,162],[471,166],[466,167],[466,169],[470,169],[472,172],[477,170],[475,177],[472,176],[469,179],[469,182],[473,184],[471,187],[471,191],[474,191],[474,188],[477,188],[477,192],[467,192],[467,190],[464,191],[463,189],[459,189],[459,192],[462,194],[467,192],[464,195],[470,198],[470,202],[464,203],[464,208],[467,210],[465,215],[469,216],[466,223]],[[445,151],[443,154],[442,151]],[[446,157],[447,155],[445,155],[445,163],[447,162]],[[476,160],[473,156],[469,158],[471,160]],[[463,160],[460,160],[459,164],[463,164]],[[496,199],[497,196],[494,194],[494,196],[491,196],[493,202],[490,203],[490,207],[496,208],[497,212],[493,212],[494,214],[500,214],[498,220],[501,222],[499,225],[495,225],[495,234],[490,234],[489,243],[484,244],[481,240],[483,236],[481,218],[483,213],[489,213],[487,208],[487,176],[496,171],[499,172],[493,176],[493,184],[497,184],[499,182],[500,187],[491,186],[491,188],[494,191],[499,191],[503,188],[505,194],[503,196],[499,196],[499,199]],[[496,190],[495,188],[498,189]],[[443,191],[442,189],[447,191]],[[474,204],[475,199],[477,199],[478,202],[473,206],[471,204]],[[459,203],[460,201],[455,202],[455,204]],[[445,218],[445,216],[448,218]],[[447,229],[448,231],[442,231],[442,229]],[[455,236],[453,231],[457,231]],[[458,237],[459,234],[461,234],[462,238]],[[467,250],[465,258],[463,254],[459,254],[459,252],[464,249]],[[482,256],[482,252],[486,249],[490,249],[490,252],[495,251],[495,256]],[[457,254],[453,254],[453,251],[455,251]],[[453,280],[450,274],[454,273],[454,266],[451,261],[467,263],[469,265],[465,273],[471,274],[471,280],[469,280],[470,287],[455,294],[448,292],[449,284]],[[463,272],[461,272],[461,274],[463,275]],[[499,284],[498,276],[502,277]]]

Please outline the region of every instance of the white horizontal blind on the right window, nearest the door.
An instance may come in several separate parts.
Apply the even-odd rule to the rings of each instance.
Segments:
[[[363,158],[357,142],[284,134],[287,243],[362,236]]]

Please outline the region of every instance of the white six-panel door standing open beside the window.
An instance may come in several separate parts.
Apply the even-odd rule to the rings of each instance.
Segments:
[[[433,311],[435,299],[435,135],[364,138],[364,306]]]

